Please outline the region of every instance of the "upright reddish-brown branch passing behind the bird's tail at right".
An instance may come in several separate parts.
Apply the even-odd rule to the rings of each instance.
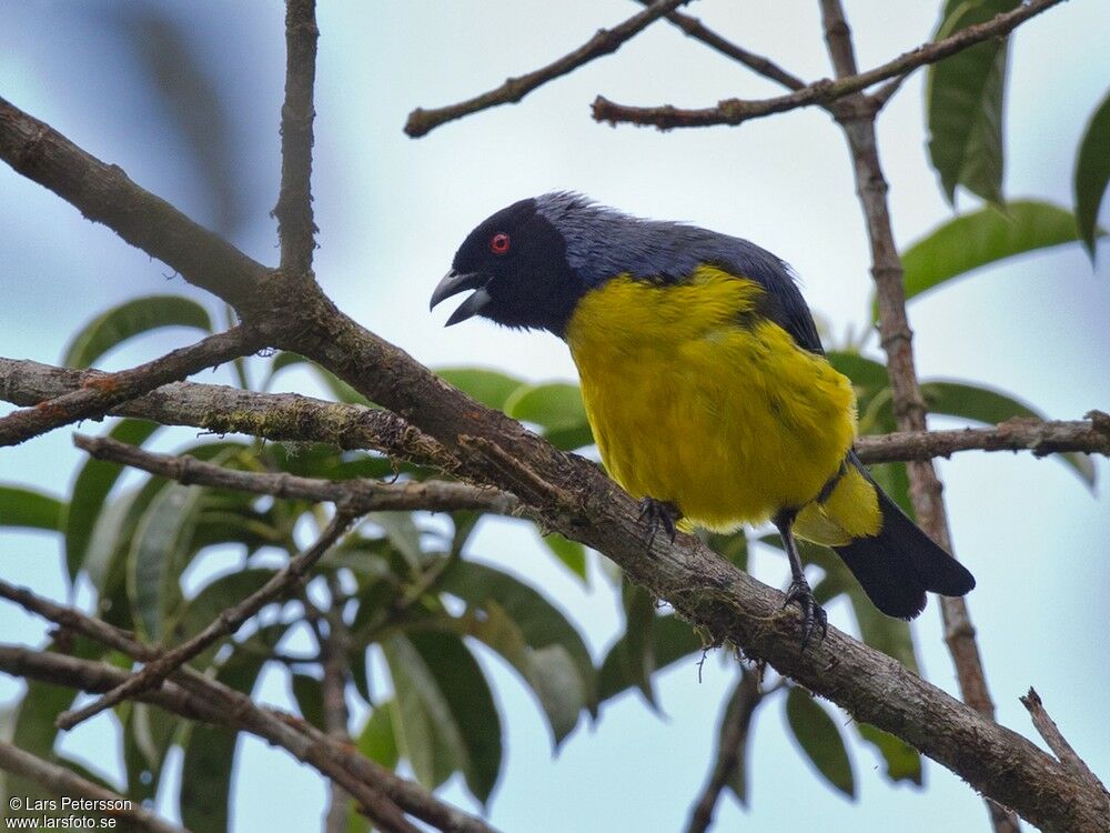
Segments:
[[[981,27],[961,30],[952,38],[966,36],[977,30],[975,38],[990,27],[1017,26],[1021,20],[1052,6],[1052,0],[1033,0],[1029,6],[1018,7],[1015,12],[1028,12],[1013,20],[1009,14],[996,17]],[[844,16],[840,0],[820,0],[821,20],[828,42],[829,56],[836,73],[840,78],[852,76],[856,60],[851,44],[851,33]],[[1012,29],[1012,26],[1010,27]],[[1005,31],[1009,31],[1006,29]],[[971,36],[966,36],[971,37]],[[940,41],[945,43],[952,38]],[[961,47],[962,48],[962,47]],[[882,349],[887,353],[887,372],[894,397],[895,416],[902,431],[924,431],[926,428],[926,405],[917,379],[914,360],[912,332],[906,315],[906,292],[902,284],[904,270],[891,229],[890,210],[887,203],[887,182],[879,161],[876,144],[875,121],[877,108],[861,110],[851,118],[838,118],[851,151],[856,178],[856,193],[864,212],[867,235],[871,244],[871,274],[875,279],[879,305],[879,333]],[[941,493],[940,479],[931,460],[911,461],[908,466],[910,500],[921,529],[948,552],[955,554],[948,515]],[[975,640],[975,628],[962,598],[941,596],[941,615],[945,622],[946,642],[956,664],[960,692],[965,702],[989,721],[995,720],[995,704],[987,688],[986,672]],[[987,809],[996,833],[1016,833],[1018,821],[1015,813],[1000,802],[987,797]]]

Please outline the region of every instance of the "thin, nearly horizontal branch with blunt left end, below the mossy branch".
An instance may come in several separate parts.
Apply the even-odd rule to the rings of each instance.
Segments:
[[[73,444],[98,460],[111,460],[124,465],[171,478],[185,485],[235,489],[274,498],[342,503],[356,514],[366,512],[454,512],[475,510],[495,514],[512,514],[519,502],[505,492],[488,486],[473,486],[443,480],[382,483],[362,478],[352,480],[314,480],[295,474],[259,473],[224,469],[192,456],[157,454],[137,449],[110,436],[74,434]]]

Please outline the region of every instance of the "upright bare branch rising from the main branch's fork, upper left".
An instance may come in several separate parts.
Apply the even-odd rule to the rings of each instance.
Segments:
[[[274,207],[281,271],[307,278],[316,225],[312,220],[312,107],[316,79],[315,0],[285,3],[285,103],[281,109],[281,193]]]

